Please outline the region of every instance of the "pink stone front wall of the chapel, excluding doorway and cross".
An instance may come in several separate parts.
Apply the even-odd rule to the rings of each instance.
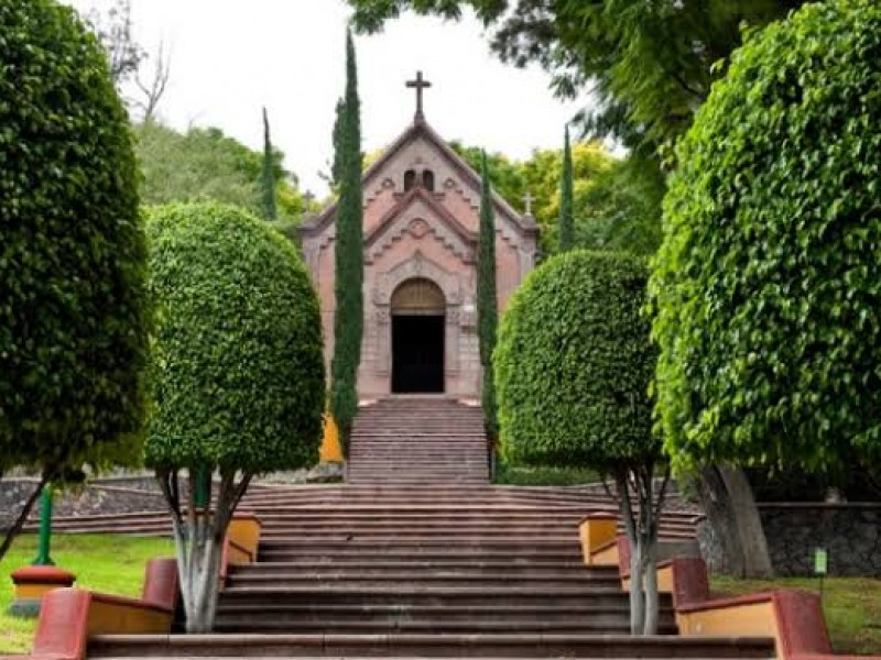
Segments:
[[[481,369],[476,333],[479,182],[464,175],[436,135],[418,130],[385,157],[365,185],[365,336],[358,391],[361,399],[391,391],[391,296],[403,282],[425,277],[446,299],[445,392],[478,399]],[[406,138],[407,134],[405,134]],[[407,169],[431,169],[435,190],[406,194]],[[467,173],[466,173],[467,174]],[[393,211],[393,212],[392,212]],[[322,217],[319,217],[319,221]],[[537,235],[530,219],[496,205],[497,286],[500,309],[533,267]],[[333,218],[304,230],[303,252],[322,305],[325,356],[334,334]]]

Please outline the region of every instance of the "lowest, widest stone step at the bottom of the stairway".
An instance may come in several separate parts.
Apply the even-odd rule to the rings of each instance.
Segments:
[[[90,658],[772,658],[765,637],[628,635],[98,635]]]

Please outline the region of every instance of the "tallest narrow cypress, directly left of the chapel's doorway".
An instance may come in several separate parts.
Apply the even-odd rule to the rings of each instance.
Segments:
[[[346,95],[338,127],[340,169],[335,249],[334,359],[330,364],[330,413],[348,440],[358,410],[358,365],[363,333],[363,208],[361,195],[361,120],[358,72],[351,32],[346,33]]]

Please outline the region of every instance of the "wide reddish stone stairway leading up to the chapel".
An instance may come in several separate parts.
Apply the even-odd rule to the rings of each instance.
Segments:
[[[253,491],[258,561],[230,570],[211,636],[104,636],[89,657],[770,658],[769,639],[628,635],[617,568],[577,526],[585,488],[491,486],[480,411],[400,398],[363,409],[350,483]],[[692,514],[662,536],[690,539]]]

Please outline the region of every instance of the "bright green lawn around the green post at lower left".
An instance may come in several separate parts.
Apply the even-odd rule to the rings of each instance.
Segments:
[[[174,554],[174,546],[166,539],[57,535],[52,544],[53,561],[76,575],[75,586],[126,596],[140,595],[146,560]],[[30,564],[35,556],[36,537],[26,535],[15,539],[0,562],[0,654],[31,650],[36,619],[10,616],[12,581],[9,574]]]

